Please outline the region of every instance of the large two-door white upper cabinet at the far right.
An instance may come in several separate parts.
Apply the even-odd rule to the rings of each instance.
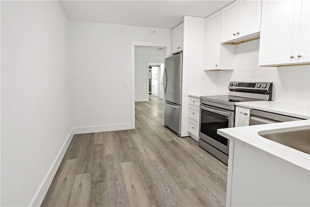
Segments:
[[[310,1],[263,1],[259,65],[310,63]]]

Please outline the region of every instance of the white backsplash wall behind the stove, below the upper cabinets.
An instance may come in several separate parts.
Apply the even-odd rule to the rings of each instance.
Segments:
[[[310,65],[260,67],[259,40],[236,45],[233,72],[219,71],[217,93],[228,94],[229,81],[273,82],[273,100],[310,104]]]

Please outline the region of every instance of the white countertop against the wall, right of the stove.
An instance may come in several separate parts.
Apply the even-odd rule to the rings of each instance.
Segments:
[[[279,113],[288,116],[294,116],[302,119],[310,119],[310,106],[283,103],[279,101],[248,101],[235,103],[249,109],[258,109],[273,113]]]

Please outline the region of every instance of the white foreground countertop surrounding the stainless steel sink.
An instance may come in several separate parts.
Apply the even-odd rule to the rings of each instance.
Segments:
[[[260,134],[277,133],[310,128],[310,120],[281,122],[275,124],[254,125],[247,127],[233,127],[217,129],[217,133],[233,142],[242,145],[249,144],[265,152],[289,161],[310,171],[310,155],[291,147],[268,140]],[[272,131],[270,131],[272,130]]]

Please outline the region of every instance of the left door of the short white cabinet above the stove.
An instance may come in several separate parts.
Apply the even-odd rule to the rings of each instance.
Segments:
[[[238,1],[221,9],[221,43],[237,38]]]

